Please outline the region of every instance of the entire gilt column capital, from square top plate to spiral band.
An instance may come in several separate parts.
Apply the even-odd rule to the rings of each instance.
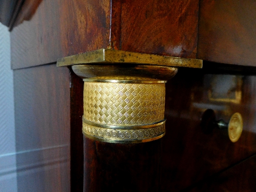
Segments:
[[[165,135],[165,83],[178,67],[202,60],[99,49],[60,58],[84,80],[83,134],[108,143],[144,143]]]

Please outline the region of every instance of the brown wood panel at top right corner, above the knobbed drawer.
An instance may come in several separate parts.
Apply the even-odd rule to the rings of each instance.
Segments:
[[[255,10],[255,0],[200,0],[197,58],[256,66]]]

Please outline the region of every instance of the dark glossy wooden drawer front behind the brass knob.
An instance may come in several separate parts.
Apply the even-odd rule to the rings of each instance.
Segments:
[[[236,79],[241,80],[240,88],[230,86],[236,84]],[[256,76],[213,75],[184,68],[167,82],[162,191],[186,189],[256,153],[255,84]],[[221,96],[226,90],[227,97],[233,97],[232,94],[240,90],[241,100],[237,103],[217,101],[209,96],[210,90],[214,90],[212,95]],[[229,140],[227,130],[203,133],[201,116],[208,108],[215,111],[216,119],[226,122],[233,113],[241,113],[244,131],[236,143]]]

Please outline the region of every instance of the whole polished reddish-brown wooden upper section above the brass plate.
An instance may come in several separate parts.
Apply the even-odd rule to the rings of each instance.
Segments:
[[[12,67],[107,47],[255,66],[256,3],[201,0],[199,31],[198,4],[26,0],[11,33]]]

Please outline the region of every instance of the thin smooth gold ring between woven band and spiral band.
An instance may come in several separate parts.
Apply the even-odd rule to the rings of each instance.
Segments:
[[[154,127],[163,125],[166,122],[166,118],[165,118],[165,119],[163,119],[163,121],[156,122],[154,124],[148,124],[148,125],[106,125],[106,124],[88,121],[88,120],[84,119],[84,117],[82,119],[83,119],[84,123],[86,123],[87,125],[91,125],[93,127],[109,128],[109,129],[130,129],[130,130],[154,128]]]

